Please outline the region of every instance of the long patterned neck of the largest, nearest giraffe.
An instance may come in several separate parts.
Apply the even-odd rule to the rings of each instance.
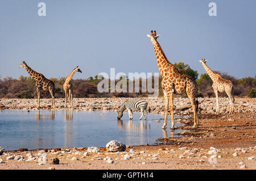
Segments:
[[[158,43],[158,41],[156,41],[155,39],[152,39],[151,41],[152,41],[152,44],[154,45],[156,61],[158,62],[158,68],[163,77],[164,75],[163,69],[164,67],[166,67],[166,65],[171,66],[174,69],[176,69],[176,67],[172,65],[170,61],[168,61],[166,54],[164,54],[163,49]]]

